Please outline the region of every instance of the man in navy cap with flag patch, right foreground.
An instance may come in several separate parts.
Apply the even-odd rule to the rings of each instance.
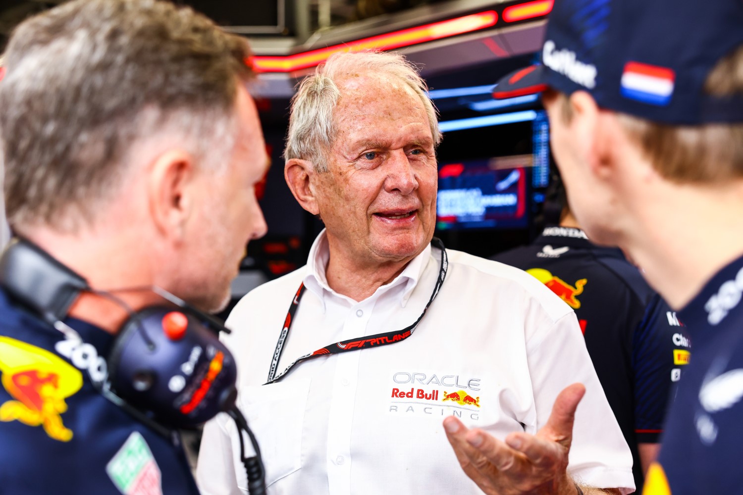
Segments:
[[[496,96],[548,89],[578,222],[642,267],[694,343],[644,493],[738,493],[743,2],[557,1],[542,62]],[[500,455],[493,439],[468,452],[481,465]]]

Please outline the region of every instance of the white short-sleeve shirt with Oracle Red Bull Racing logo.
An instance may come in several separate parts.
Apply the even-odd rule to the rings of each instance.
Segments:
[[[414,334],[383,347],[325,355],[264,385],[291,301],[278,370],[325,345],[412,324],[429,300],[441,252],[430,246],[364,301],[325,281],[322,233],[308,265],[246,295],[225,341],[238,360],[239,405],[259,440],[268,493],[480,494],[441,424],[455,415],[503,439],[536,433],[557,394],[580,381],[568,472],[587,485],[634,489],[632,456],[606,401],[573,310],[519,269],[447,249],[441,291]],[[204,494],[247,493],[232,420],[204,428]]]

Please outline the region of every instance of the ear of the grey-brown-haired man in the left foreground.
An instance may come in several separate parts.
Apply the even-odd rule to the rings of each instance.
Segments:
[[[180,242],[184,238],[186,220],[192,212],[189,183],[194,175],[191,154],[169,150],[152,162],[147,179],[149,212],[158,232]]]

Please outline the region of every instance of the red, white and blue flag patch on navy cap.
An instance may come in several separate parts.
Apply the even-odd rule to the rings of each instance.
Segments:
[[[674,71],[669,68],[627,62],[622,73],[622,96],[665,106],[671,101],[675,79]]]

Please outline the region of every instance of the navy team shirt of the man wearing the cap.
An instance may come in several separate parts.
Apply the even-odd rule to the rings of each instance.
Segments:
[[[694,359],[678,385],[646,494],[743,494],[743,257],[679,312]]]

